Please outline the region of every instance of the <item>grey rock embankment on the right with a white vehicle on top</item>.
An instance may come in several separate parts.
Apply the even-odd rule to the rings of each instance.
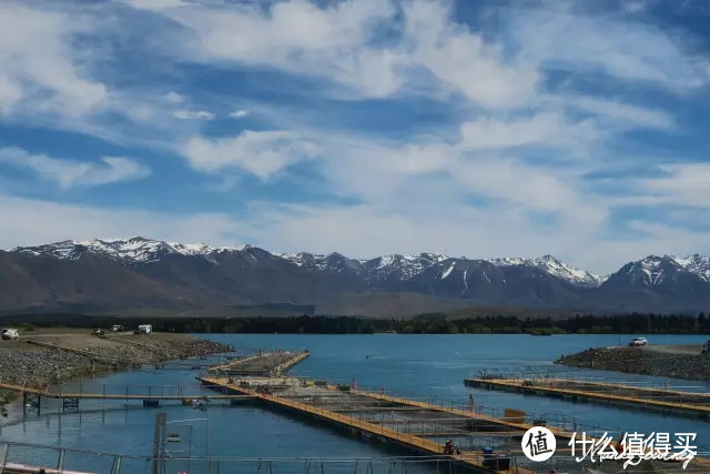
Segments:
[[[594,347],[562,355],[555,363],[627,374],[710,381],[710,355],[651,347]]]

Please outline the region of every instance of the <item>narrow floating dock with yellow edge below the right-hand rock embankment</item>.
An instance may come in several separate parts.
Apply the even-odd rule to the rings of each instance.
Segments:
[[[468,386],[554,396],[575,402],[607,403],[631,409],[710,417],[710,395],[567,379],[466,379]]]

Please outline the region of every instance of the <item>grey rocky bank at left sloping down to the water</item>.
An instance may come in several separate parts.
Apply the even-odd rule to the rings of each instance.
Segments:
[[[0,343],[0,383],[41,387],[70,379],[227,352],[223,344],[185,334],[95,337],[89,331]],[[0,389],[0,405],[13,396]]]

